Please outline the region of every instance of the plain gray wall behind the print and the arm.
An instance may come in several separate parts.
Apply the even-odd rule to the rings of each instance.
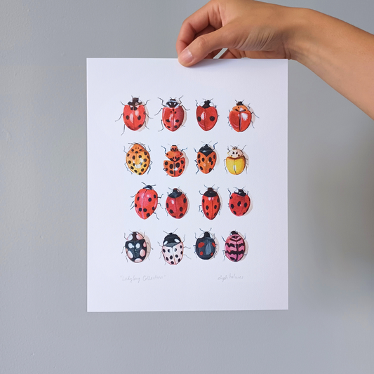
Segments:
[[[282,4],[374,33],[373,0]],[[289,311],[86,313],[86,58],[174,58],[202,5],[1,1],[1,374],[374,372],[374,123],[296,62]]]

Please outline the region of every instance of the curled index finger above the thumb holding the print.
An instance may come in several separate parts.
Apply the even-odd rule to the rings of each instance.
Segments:
[[[176,48],[178,55],[194,41],[196,34],[211,25],[214,29],[222,27],[222,22],[218,16],[219,12],[215,12],[212,2],[208,2],[198,11],[190,15],[182,23],[178,34]]]

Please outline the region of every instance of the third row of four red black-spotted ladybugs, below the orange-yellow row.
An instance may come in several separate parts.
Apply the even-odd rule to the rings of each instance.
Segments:
[[[229,193],[229,208],[232,214],[237,217],[245,215],[251,206],[251,199],[248,193],[243,189]],[[208,220],[213,220],[220,211],[220,196],[218,196],[217,190],[213,189],[213,187],[208,187],[206,192],[201,195],[201,211]],[[140,218],[146,220],[153,213],[156,214],[155,211],[159,205],[159,197],[161,196],[158,196],[152,186],[145,186],[133,197],[134,201],[131,205],[132,208],[135,208],[135,212]],[[178,188],[174,188],[166,198],[165,210],[173,218],[182,218],[187,213],[188,206],[189,203],[186,194]]]

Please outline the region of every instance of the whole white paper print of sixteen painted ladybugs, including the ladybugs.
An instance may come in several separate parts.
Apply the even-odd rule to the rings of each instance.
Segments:
[[[88,60],[88,310],[287,308],[286,71]]]

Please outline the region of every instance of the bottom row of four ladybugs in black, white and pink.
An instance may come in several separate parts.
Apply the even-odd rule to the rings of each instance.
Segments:
[[[223,239],[223,238],[222,238]],[[217,254],[215,237],[210,232],[204,232],[196,238],[194,245],[197,257],[202,260],[210,260]],[[230,261],[239,262],[246,255],[246,241],[238,232],[232,231],[225,241],[225,257]],[[161,246],[161,244],[160,244]],[[126,255],[132,262],[142,262],[149,255],[151,246],[147,243],[145,236],[140,232],[132,232],[126,238]],[[180,236],[171,232],[165,236],[161,246],[161,253],[164,260],[170,265],[178,265],[183,258],[184,243]],[[122,253],[123,253],[122,249]]]

